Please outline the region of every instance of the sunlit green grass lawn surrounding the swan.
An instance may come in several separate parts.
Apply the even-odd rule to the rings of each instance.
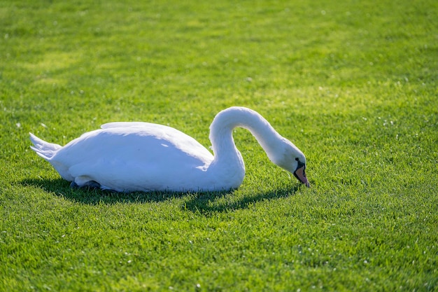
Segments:
[[[309,2],[309,3],[306,3]],[[437,1],[0,0],[0,291],[437,291]],[[71,190],[29,149],[101,123],[209,146],[245,130],[230,193]]]

